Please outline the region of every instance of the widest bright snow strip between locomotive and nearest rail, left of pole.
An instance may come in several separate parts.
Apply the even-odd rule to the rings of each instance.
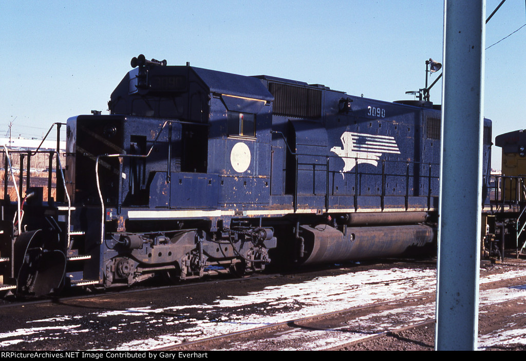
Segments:
[[[346,308],[366,305],[379,301],[394,301],[407,296],[419,296],[434,291],[435,272],[433,270],[379,270],[358,272],[339,276],[318,277],[312,281],[299,284],[266,287],[259,292],[244,296],[230,296],[218,299],[214,305],[203,305],[204,309],[217,310],[228,308],[230,314],[222,319],[205,319],[195,321],[186,329],[185,334],[176,333],[123,344],[118,349],[144,349],[168,346],[185,341],[194,341],[214,337],[225,333],[244,331],[246,329],[286,322],[320,313],[345,310]],[[389,284],[389,287],[385,287]],[[260,304],[266,314],[237,314],[245,306]],[[282,308],[292,308],[280,311]],[[167,307],[151,310],[156,313],[174,311],[179,307]],[[142,309],[142,311],[145,311]],[[255,311],[262,311],[255,310]],[[190,324],[192,321],[190,320]],[[198,337],[192,337],[197,335]],[[168,345],[167,345],[168,344]]]

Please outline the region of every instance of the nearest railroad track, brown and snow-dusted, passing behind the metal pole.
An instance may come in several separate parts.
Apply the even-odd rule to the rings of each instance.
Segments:
[[[526,277],[518,276],[513,279],[499,280],[492,282],[485,282],[481,284],[481,291],[490,291],[493,289],[500,288],[502,286],[510,286],[510,284],[521,285],[526,282]],[[429,292],[426,295],[420,295],[416,297],[404,297],[398,300],[390,300],[386,302],[376,302],[368,305],[350,307],[345,310],[336,312],[323,313],[318,315],[311,315],[308,317],[289,319],[275,324],[270,324],[262,327],[246,329],[245,331],[229,333],[225,335],[209,337],[199,339],[197,341],[185,342],[178,345],[172,345],[168,347],[159,348],[160,350],[244,350],[242,345],[248,344],[250,347],[258,347],[258,350],[278,350],[278,349],[309,349],[305,345],[299,345],[298,342],[292,342],[297,344],[297,348],[284,347],[284,338],[291,334],[308,334],[317,333],[320,337],[322,333],[349,333],[353,334],[349,338],[352,341],[339,342],[337,345],[330,345],[327,342],[325,346],[318,344],[312,349],[317,350],[353,350],[353,349],[374,349],[374,346],[370,346],[376,341],[376,344],[382,344],[379,341],[381,338],[391,338],[389,342],[383,342],[389,345],[395,344],[406,344],[400,346],[400,349],[433,349],[433,337],[434,337],[434,313],[429,313],[429,319],[423,322],[416,322],[411,325],[404,325],[401,327],[392,327],[381,332],[373,331],[358,331],[352,326],[352,320],[357,318],[367,318],[367,315],[378,315],[378,314],[397,314],[399,310],[406,309],[417,309],[427,307],[431,311],[434,310],[434,300],[436,294]],[[492,310],[492,308],[499,307],[502,305],[509,304],[510,302],[522,301],[524,295],[509,298],[503,302],[488,303],[480,307],[481,313],[486,313]],[[374,317],[374,316],[372,316]],[[386,324],[388,321],[386,321]],[[422,330],[420,333],[427,333],[427,338],[424,340],[411,339],[404,334],[414,333],[414,330]],[[283,337],[286,335],[287,337]],[[330,335],[326,336],[330,339]],[[291,338],[291,337],[288,337]],[[309,336],[296,336],[296,338],[309,338]],[[413,337],[414,338],[414,337]],[[289,339],[290,342],[290,339]],[[241,345],[241,346],[240,346]],[[257,346],[255,346],[257,345]],[[395,346],[396,347],[396,346]],[[409,347],[409,348],[407,348]],[[411,348],[415,347],[415,348]],[[250,348],[254,349],[254,348]],[[386,348],[389,349],[389,348]],[[396,348],[395,348],[396,349]]]

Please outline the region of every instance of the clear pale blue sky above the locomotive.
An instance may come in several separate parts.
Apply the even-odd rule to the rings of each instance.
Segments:
[[[487,15],[500,0],[487,0]],[[0,3],[0,137],[42,137],[54,121],[107,114],[132,57],[318,83],[386,101],[423,88],[442,60],[443,1],[11,1]],[[486,46],[526,22],[507,0]],[[485,54],[484,115],[493,137],[526,128],[526,27]],[[433,81],[436,74],[430,78]],[[441,102],[441,82],[431,90]],[[494,148],[500,154],[500,149]],[[500,155],[494,157],[500,168]]]

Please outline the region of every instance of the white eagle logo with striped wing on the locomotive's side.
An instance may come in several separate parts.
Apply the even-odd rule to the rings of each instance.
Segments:
[[[345,165],[340,171],[343,178],[345,172],[355,168],[356,163],[368,163],[378,167],[378,160],[383,153],[400,154],[394,137],[377,136],[346,131],[341,135],[343,148],[332,147],[331,152],[336,153]]]

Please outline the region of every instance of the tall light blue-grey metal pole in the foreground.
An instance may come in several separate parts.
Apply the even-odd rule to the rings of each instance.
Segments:
[[[485,0],[444,1],[437,350],[477,346]]]

